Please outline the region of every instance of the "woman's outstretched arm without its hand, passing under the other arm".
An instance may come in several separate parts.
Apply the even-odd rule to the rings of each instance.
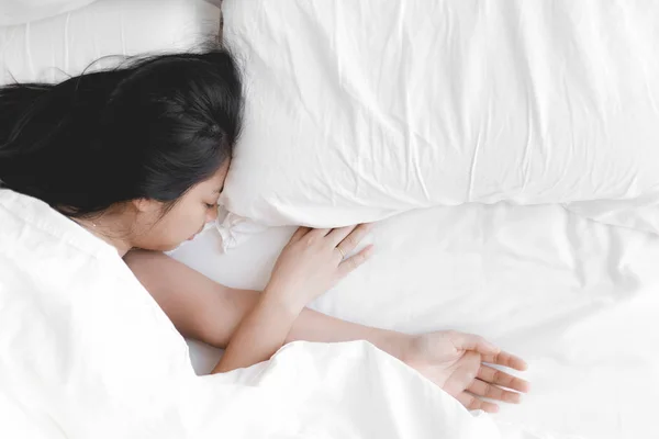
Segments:
[[[222,285],[161,252],[133,250],[124,258],[139,282],[176,328],[188,338],[224,349],[238,324],[259,302],[263,292]],[[342,320],[304,308],[286,342],[368,340],[396,356],[406,335]]]

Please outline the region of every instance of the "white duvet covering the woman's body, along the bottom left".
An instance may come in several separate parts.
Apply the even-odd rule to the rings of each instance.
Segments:
[[[9,190],[0,224],[0,437],[547,437],[470,414],[366,342],[197,376],[113,247]]]

